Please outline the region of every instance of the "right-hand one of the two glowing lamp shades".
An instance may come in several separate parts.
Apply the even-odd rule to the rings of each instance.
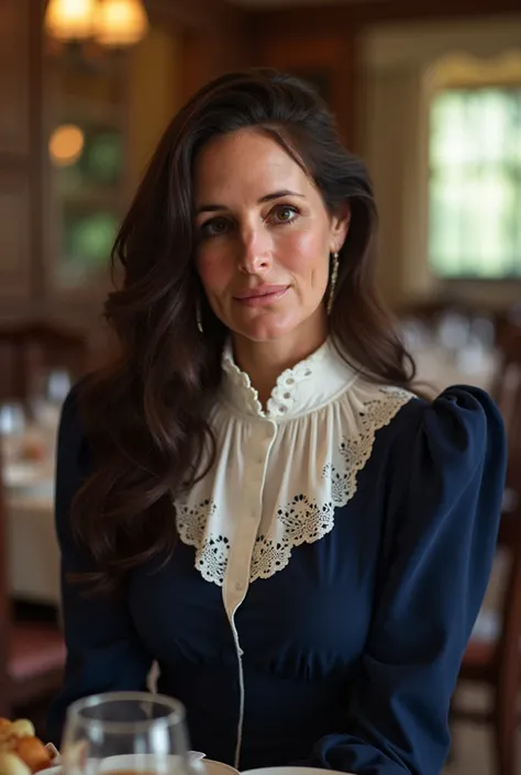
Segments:
[[[95,16],[93,36],[103,46],[132,46],[148,31],[148,19],[141,0],[100,0]]]

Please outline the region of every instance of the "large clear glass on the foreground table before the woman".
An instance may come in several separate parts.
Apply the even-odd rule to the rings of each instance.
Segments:
[[[195,775],[185,708],[142,691],[96,695],[74,702],[63,740],[65,775]]]

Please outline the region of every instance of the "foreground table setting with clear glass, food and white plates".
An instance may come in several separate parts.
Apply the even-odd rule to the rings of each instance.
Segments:
[[[275,766],[241,775],[318,775]],[[239,775],[190,750],[185,707],[170,697],[118,691],[84,698],[67,711],[62,750],[45,744],[27,719],[0,719],[0,775]]]

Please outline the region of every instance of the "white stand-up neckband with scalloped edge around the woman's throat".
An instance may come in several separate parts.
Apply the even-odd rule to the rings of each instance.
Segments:
[[[264,410],[248,375],[236,365],[231,342],[222,355],[224,397],[242,414],[274,421],[307,414],[329,403],[356,378],[331,340],[279,375]]]

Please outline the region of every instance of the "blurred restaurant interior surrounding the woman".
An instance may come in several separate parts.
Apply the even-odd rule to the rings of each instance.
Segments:
[[[378,289],[418,381],[477,385],[503,413],[497,560],[446,768],[521,775],[520,0],[126,0],[112,15],[99,0],[95,24],[97,4],[0,2],[0,717],[43,730],[62,682],[56,429],[114,346],[119,221],[185,100],[263,65],[312,82],[368,165]]]

